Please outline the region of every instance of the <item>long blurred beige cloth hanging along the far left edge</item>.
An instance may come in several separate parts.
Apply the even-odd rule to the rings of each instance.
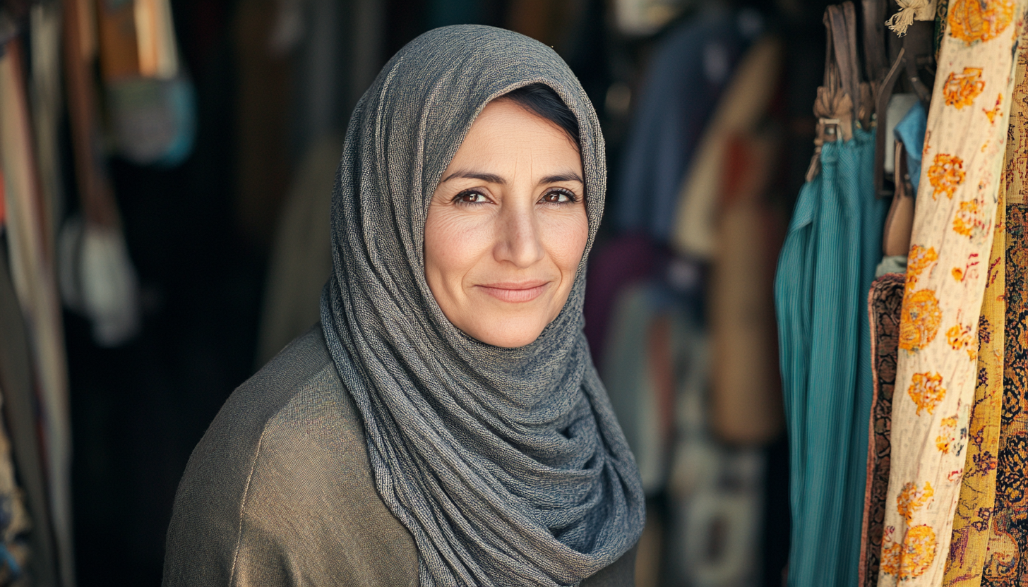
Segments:
[[[45,221],[34,160],[31,118],[15,39],[0,57],[0,169],[11,281],[26,322],[38,381],[48,501],[62,581],[74,583],[71,519],[71,425],[64,328],[52,257],[45,254]]]

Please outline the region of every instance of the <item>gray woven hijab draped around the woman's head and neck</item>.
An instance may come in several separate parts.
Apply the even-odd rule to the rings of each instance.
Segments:
[[[336,176],[322,326],[425,586],[576,585],[642,530],[635,461],[582,332],[585,258],[563,309],[518,348],[458,331],[425,279],[443,172],[482,108],[530,83],[578,118],[588,253],[605,188],[596,113],[567,65],[517,33],[445,27],[407,44],[354,110]]]

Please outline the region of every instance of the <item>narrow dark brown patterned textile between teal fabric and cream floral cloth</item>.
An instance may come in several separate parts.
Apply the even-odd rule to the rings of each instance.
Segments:
[[[871,401],[868,482],[864,496],[860,537],[857,581],[860,587],[874,587],[878,584],[878,565],[882,556],[885,491],[889,485],[892,390],[896,380],[896,354],[900,352],[900,310],[903,305],[904,281],[903,273],[885,273],[871,284],[871,292],[868,294],[874,396]]]

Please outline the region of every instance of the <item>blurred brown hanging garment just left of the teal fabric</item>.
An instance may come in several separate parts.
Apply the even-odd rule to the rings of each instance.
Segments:
[[[707,294],[710,429],[731,444],[760,445],[783,427],[772,292],[785,220],[765,199],[778,143],[741,134],[724,146]]]

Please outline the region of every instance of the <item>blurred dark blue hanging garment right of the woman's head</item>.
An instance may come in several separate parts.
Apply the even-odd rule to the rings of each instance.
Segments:
[[[615,227],[666,243],[682,178],[730,74],[760,32],[749,20],[708,6],[655,48],[639,95],[617,187]],[[748,35],[748,36],[747,36]]]

